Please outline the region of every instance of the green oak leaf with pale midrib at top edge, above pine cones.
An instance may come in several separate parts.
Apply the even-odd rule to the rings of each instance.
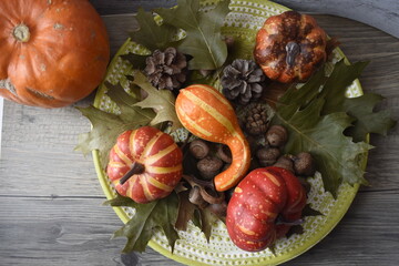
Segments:
[[[223,41],[221,28],[229,12],[228,0],[221,1],[207,12],[200,11],[200,0],[177,0],[174,9],[156,9],[164,24],[183,29],[186,37],[178,50],[193,59],[190,69],[214,70],[223,65],[227,58],[227,45]]]

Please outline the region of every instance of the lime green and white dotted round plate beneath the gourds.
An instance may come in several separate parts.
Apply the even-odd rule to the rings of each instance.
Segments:
[[[209,9],[216,1],[202,1],[204,9]],[[285,7],[269,1],[232,1],[232,12],[227,16],[223,33],[233,35],[239,43],[241,50],[234,57],[252,58],[252,49],[255,42],[256,31],[262,27],[266,18],[282,13],[288,10]],[[132,70],[132,65],[120,58],[121,54],[135,51],[140,52],[142,48],[127,40],[119,50],[112,60],[106,74],[106,81],[115,84],[121,82],[127,85],[125,74]],[[339,49],[334,51],[334,60],[344,58]],[[117,112],[117,108],[105,95],[106,88],[101,85],[94,105],[105,111]],[[360,83],[354,82],[347,91],[348,96],[359,96],[362,94]],[[100,166],[99,154],[93,152],[96,173],[108,198],[115,196],[113,186],[109,183],[104,171]],[[366,161],[366,160],[365,160]],[[362,162],[366,165],[366,162]],[[306,217],[304,223],[305,233],[293,235],[289,238],[277,241],[275,253],[269,249],[259,253],[247,253],[238,249],[231,242],[225,225],[219,222],[214,224],[211,242],[207,243],[205,236],[193,224],[190,224],[186,232],[180,232],[181,239],[175,245],[174,253],[167,244],[165,236],[157,232],[150,242],[150,246],[174,260],[186,265],[278,265],[287,262],[323,239],[342,218],[350,206],[358,186],[341,185],[338,197],[334,200],[329,193],[323,188],[321,177],[317,175],[313,180],[311,191],[308,195],[308,202],[311,207],[325,214],[325,216]],[[133,216],[133,209],[114,208],[117,216],[126,223]]]

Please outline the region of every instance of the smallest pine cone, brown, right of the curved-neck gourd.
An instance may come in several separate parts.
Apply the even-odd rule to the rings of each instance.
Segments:
[[[264,134],[267,131],[268,114],[265,105],[257,103],[247,113],[245,129],[252,135]]]

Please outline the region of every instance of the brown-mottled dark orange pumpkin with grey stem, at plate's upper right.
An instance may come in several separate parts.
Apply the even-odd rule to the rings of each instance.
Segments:
[[[326,61],[326,32],[311,16],[287,11],[265,21],[254,58],[272,80],[305,81]]]

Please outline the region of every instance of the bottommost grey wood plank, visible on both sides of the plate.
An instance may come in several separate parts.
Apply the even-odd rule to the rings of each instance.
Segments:
[[[360,193],[332,234],[286,265],[396,265],[398,194]],[[0,200],[1,265],[180,265],[153,250],[122,256],[121,222],[102,198]],[[122,259],[139,264],[122,264]]]

